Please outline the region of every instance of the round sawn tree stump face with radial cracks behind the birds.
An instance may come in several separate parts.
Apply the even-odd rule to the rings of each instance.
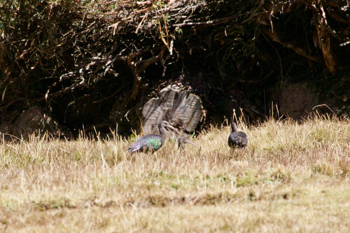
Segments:
[[[187,91],[165,88],[159,92],[159,97],[152,98],[144,105],[142,115],[146,134],[159,133],[159,122],[168,121],[183,137],[188,138],[200,122],[202,102],[198,96]]]

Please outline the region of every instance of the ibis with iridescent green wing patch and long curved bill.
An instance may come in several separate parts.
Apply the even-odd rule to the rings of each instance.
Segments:
[[[158,150],[165,141],[165,137],[167,135],[167,131],[165,128],[169,128],[174,130],[177,134],[180,134],[179,131],[177,131],[173,126],[171,126],[169,124],[169,122],[167,121],[162,121],[161,123],[159,123],[158,125],[158,129],[159,129],[159,133],[160,134],[148,134],[145,135],[141,138],[139,138],[137,141],[135,141],[135,143],[133,143],[130,147],[129,147],[129,152],[133,153],[135,151],[156,151]]]

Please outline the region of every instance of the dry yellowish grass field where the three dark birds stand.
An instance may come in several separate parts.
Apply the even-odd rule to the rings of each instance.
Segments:
[[[244,125],[240,124],[242,129]],[[269,120],[175,143],[152,155],[132,141],[31,139],[0,145],[6,232],[345,232],[350,227],[350,122]]]

